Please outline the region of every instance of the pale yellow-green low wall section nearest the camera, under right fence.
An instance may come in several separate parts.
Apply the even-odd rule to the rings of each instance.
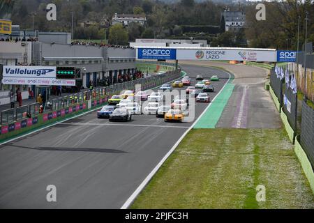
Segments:
[[[304,149],[299,143],[299,139],[295,140],[294,144],[294,153],[297,155],[299,162],[301,163],[301,167],[304,171],[304,174],[306,175],[306,178],[308,178],[308,183],[310,183],[310,187],[312,189],[312,192],[314,194],[314,172],[311,165],[311,162],[308,160],[308,157],[306,153],[304,152]]]

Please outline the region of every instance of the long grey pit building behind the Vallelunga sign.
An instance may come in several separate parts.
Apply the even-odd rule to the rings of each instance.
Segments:
[[[62,38],[63,36],[61,35],[60,37]],[[52,38],[55,39],[54,36]],[[85,88],[89,87],[90,82],[96,86],[105,77],[112,77],[115,83],[119,75],[133,74],[136,67],[136,51],[130,47],[0,41],[0,49],[0,66],[75,67],[82,70],[80,72],[80,80]],[[10,102],[8,97],[10,89],[15,91],[17,87],[22,90],[23,99],[28,98],[29,87],[35,88],[35,86],[28,85],[12,86],[1,84],[0,103],[8,104]]]

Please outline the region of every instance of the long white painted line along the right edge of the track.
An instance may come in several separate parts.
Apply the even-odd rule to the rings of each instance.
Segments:
[[[221,70],[222,72],[225,72],[224,70]],[[147,183],[149,183],[149,181],[151,180],[151,178],[153,178],[153,176],[157,173],[158,169],[160,169],[160,167],[163,165],[163,163],[165,162],[165,160],[167,160],[167,158],[173,153],[173,151],[177,148],[177,146],[179,145],[179,143],[182,141],[182,139],[184,139],[184,137],[186,137],[186,134],[188,134],[188,132],[190,132],[190,130],[194,127],[194,125],[196,125],[196,123],[200,120],[200,118],[205,114],[205,112],[207,112],[207,110],[209,109],[209,107],[211,107],[212,102],[214,102],[214,100],[216,99],[216,97],[221,93],[221,91],[223,91],[223,89],[225,89],[225,86],[227,85],[227,83],[230,81],[230,73],[225,72],[227,75],[229,75],[229,79],[227,80],[227,82],[225,83],[225,85],[223,86],[222,89],[220,89],[220,91],[218,92],[218,94],[214,97],[213,100],[211,100],[211,103],[207,106],[206,109],[204,109],[204,112],[202,112],[202,114],[197,118],[197,120],[193,123],[193,125],[190,126],[190,128],[188,128],[188,130],[186,130],[186,132],[184,132],[184,134],[181,135],[181,137],[179,138],[179,140],[174,144],[174,146],[172,146],[172,148],[170,149],[170,151],[163,157],[162,160],[160,160],[160,162],[156,165],[156,167],[149,173],[149,175],[143,180],[143,182],[137,187],[137,189],[135,190],[135,192],[133,192],[133,194],[131,194],[131,196],[128,198],[128,200],[126,200],[126,202],[124,203],[124,205],[121,207],[121,209],[126,209],[128,208],[131,203],[133,203],[133,201],[136,199],[136,197],[138,196],[138,194],[140,194],[140,192],[144,189],[144,187],[147,185]]]

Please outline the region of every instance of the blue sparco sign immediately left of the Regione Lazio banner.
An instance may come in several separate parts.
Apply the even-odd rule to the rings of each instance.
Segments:
[[[175,60],[177,49],[138,48],[137,59]]]

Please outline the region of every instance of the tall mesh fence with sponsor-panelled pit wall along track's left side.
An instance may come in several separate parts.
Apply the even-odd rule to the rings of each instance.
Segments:
[[[124,90],[135,91],[135,86],[140,84],[141,91],[153,89],[161,84],[171,82],[181,77],[181,70],[172,70],[160,75],[135,79],[130,82],[100,87],[94,90],[82,91],[73,95],[47,100],[42,110],[39,103],[8,109],[1,112],[0,140],[20,134],[25,130],[39,127],[40,125],[58,121],[68,115],[84,112],[107,103],[114,94]]]

